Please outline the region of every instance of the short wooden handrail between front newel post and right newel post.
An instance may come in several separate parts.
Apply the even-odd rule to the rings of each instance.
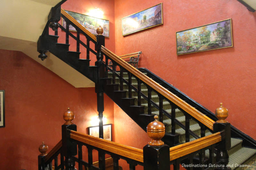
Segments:
[[[221,141],[220,132],[170,148],[170,161]]]

